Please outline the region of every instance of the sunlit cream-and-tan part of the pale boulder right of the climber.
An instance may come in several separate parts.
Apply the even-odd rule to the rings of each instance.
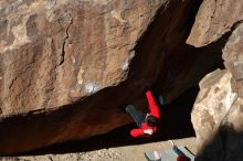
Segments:
[[[196,99],[191,120],[197,135],[199,151],[208,144],[236,99],[231,90],[231,73],[216,69],[200,82],[200,93]]]

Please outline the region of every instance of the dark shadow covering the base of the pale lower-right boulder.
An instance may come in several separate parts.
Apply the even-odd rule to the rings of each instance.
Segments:
[[[243,131],[230,125],[221,126],[213,139],[198,153],[196,161],[242,161]]]

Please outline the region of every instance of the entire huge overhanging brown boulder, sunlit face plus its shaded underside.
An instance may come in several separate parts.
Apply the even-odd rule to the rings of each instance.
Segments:
[[[171,101],[221,60],[186,37],[197,0],[0,2],[0,154],[130,122],[144,86]],[[197,54],[196,54],[197,53]],[[215,53],[215,54],[212,54]]]

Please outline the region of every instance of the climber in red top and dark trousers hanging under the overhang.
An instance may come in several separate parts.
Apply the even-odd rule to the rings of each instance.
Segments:
[[[150,112],[146,115],[142,114],[140,110],[136,109],[133,105],[120,106],[120,108],[125,112],[129,114],[133,117],[133,119],[139,127],[130,131],[130,136],[134,138],[151,136],[157,131],[159,126],[160,114],[159,107],[156,104],[156,99],[154,98],[152,93],[150,90],[146,92],[146,97],[150,109]]]

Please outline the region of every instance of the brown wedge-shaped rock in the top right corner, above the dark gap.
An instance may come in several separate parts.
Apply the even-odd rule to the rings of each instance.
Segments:
[[[242,20],[242,0],[204,0],[187,43],[200,47],[215,42]]]

